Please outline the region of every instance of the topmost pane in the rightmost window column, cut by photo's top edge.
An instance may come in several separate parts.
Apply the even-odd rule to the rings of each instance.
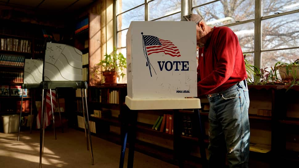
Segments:
[[[298,0],[262,0],[262,15],[268,16],[276,12],[282,13],[299,9]]]

